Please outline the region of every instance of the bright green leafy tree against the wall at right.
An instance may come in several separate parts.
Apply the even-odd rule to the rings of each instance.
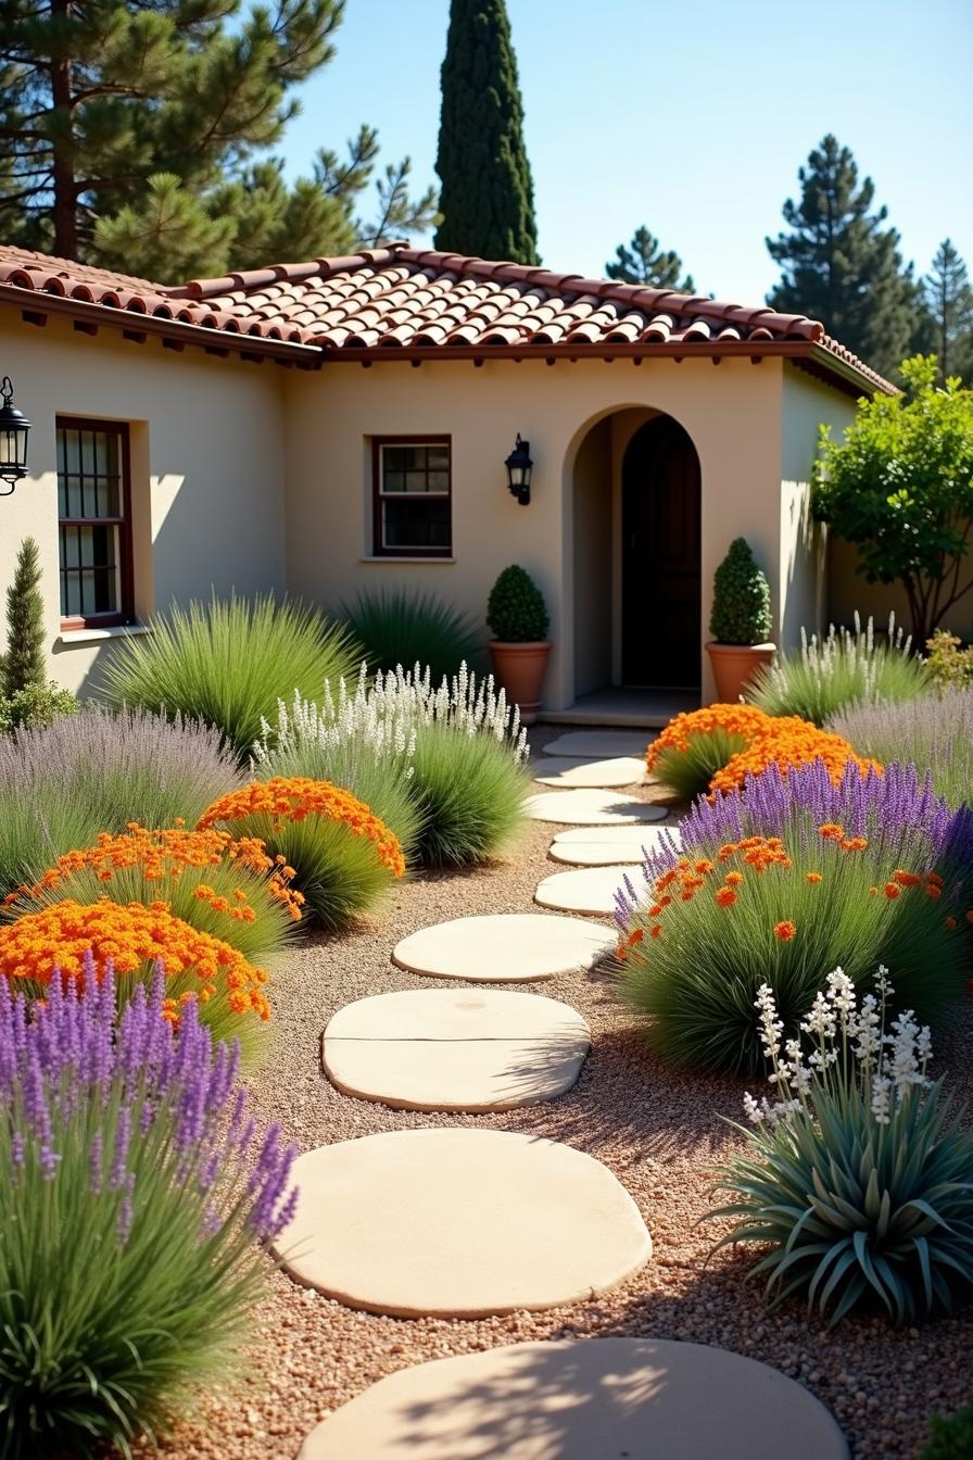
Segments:
[[[906,394],[864,400],[842,444],[821,426],[813,493],[815,518],[858,545],[858,572],[903,584],[922,644],[973,588],[973,391],[938,387],[937,369],[935,355],[906,361]]]

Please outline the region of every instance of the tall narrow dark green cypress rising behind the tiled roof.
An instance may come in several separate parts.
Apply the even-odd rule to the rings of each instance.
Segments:
[[[436,172],[436,248],[537,264],[534,185],[503,0],[452,0]]]

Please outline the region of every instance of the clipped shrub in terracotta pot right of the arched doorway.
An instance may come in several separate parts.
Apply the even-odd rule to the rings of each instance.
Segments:
[[[706,645],[716,680],[716,698],[734,704],[750,676],[776,653],[770,637],[770,584],[744,537],[737,537],[713,578],[709,618],[713,642]]]

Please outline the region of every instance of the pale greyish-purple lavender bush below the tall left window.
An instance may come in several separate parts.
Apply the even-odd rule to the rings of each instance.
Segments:
[[[63,853],[128,822],[194,825],[242,784],[217,730],[144,710],[86,705],[0,737],[0,896],[32,883]]]

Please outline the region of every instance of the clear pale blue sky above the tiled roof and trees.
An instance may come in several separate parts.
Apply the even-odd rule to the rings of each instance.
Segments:
[[[798,166],[833,131],[919,272],[973,273],[973,0],[508,0],[540,250],[601,274],[645,222],[697,289],[757,302]],[[287,130],[292,175],[368,121],[435,182],[449,0],[347,0]]]

